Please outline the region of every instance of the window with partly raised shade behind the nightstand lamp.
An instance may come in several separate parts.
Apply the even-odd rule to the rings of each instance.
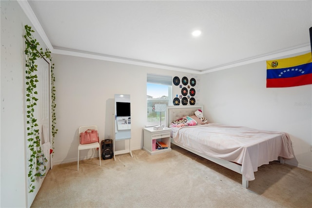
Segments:
[[[147,126],[166,125],[166,112],[156,112],[155,104],[170,105],[172,100],[172,77],[147,74]]]

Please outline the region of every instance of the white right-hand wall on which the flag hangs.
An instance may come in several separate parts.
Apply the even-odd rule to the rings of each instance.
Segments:
[[[207,73],[201,80],[209,122],[288,132],[295,159],[286,163],[312,170],[312,84],[266,88],[265,61]]]

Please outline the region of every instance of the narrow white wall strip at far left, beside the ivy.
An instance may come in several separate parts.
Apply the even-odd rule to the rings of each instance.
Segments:
[[[32,26],[17,1],[0,1],[1,98],[0,98],[0,207],[27,207],[25,134],[25,34]],[[32,27],[33,28],[33,27]],[[34,37],[45,48],[39,37]],[[38,187],[39,188],[39,187]]]

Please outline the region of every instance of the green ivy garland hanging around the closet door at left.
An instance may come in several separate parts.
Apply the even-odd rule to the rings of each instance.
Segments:
[[[40,146],[40,136],[39,136],[39,127],[37,123],[37,119],[35,118],[35,106],[37,105],[38,92],[36,91],[37,83],[39,82],[38,76],[36,74],[38,65],[35,64],[35,61],[41,57],[46,57],[52,62],[51,52],[46,50],[43,52],[43,49],[38,49],[39,42],[32,36],[32,33],[35,32],[31,29],[30,26],[25,25],[25,55],[26,55],[26,120],[27,120],[27,141],[28,141],[28,149],[30,151],[30,158],[28,160],[28,179],[29,186],[28,191],[33,192],[35,186],[33,186],[33,182],[35,182],[36,177],[44,177],[46,163],[48,162]],[[52,149],[54,149],[54,137],[58,131],[55,128],[56,125],[56,115],[55,115],[55,86],[54,86],[54,64],[51,64],[51,97],[52,97]]]

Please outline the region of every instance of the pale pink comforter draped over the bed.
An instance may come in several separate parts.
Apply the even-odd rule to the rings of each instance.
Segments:
[[[176,143],[211,157],[242,166],[247,180],[254,180],[259,166],[277,160],[278,156],[293,158],[290,136],[284,132],[261,131],[242,126],[215,123],[174,127]]]

